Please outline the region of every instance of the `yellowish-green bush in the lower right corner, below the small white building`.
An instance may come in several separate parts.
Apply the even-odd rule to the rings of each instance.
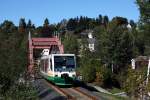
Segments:
[[[127,79],[124,83],[124,90],[130,96],[140,97],[146,93],[146,70],[147,67],[142,67],[139,70],[128,69]]]

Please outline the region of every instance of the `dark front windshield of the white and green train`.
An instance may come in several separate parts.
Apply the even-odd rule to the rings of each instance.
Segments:
[[[74,71],[75,57],[74,56],[54,56],[55,71]]]

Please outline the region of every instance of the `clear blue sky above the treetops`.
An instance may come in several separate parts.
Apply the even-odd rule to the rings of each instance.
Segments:
[[[25,18],[40,26],[45,18],[53,24],[81,15],[96,18],[99,14],[135,22],[140,16],[135,0],[0,0],[0,23],[10,20],[18,25],[19,19]]]

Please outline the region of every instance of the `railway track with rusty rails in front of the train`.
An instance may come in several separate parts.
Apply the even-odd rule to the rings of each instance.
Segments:
[[[98,98],[91,95],[90,93],[83,91],[80,87],[60,88],[47,81],[45,82],[55,91],[65,96],[67,100],[98,100]]]

